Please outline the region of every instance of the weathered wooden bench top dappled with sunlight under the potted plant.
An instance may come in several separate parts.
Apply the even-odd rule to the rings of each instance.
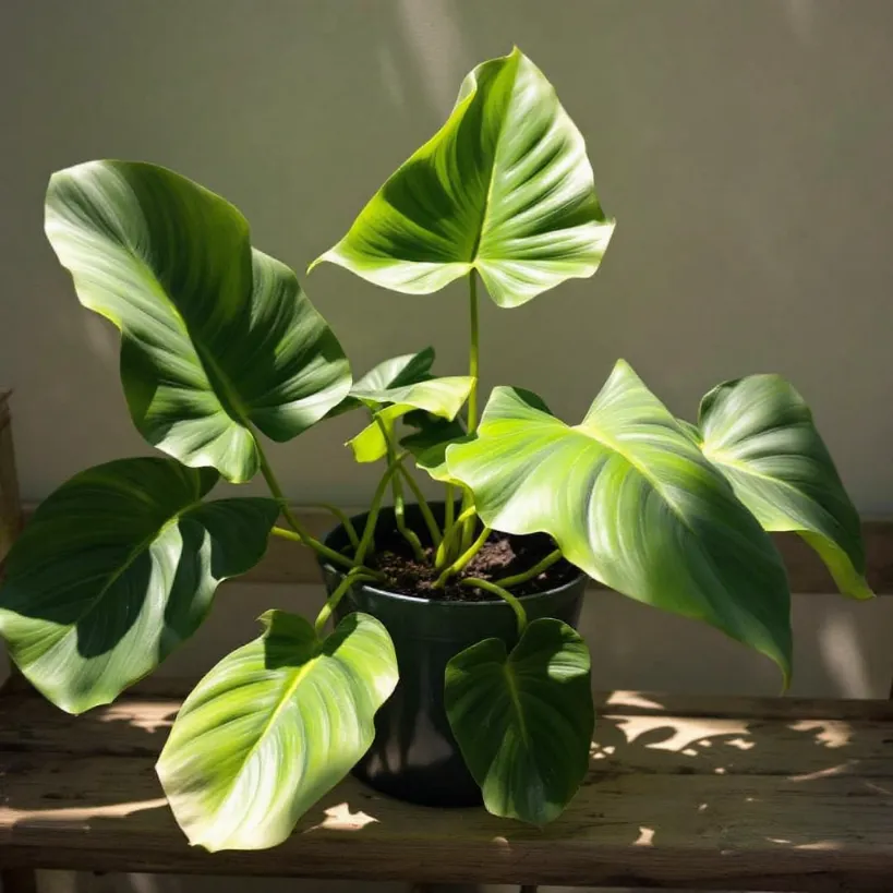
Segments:
[[[893,891],[893,704],[599,698],[592,768],[540,831],[433,810],[352,779],[283,845],[209,855],[177,828],[154,762],[183,687],[81,717],[0,693],[5,893],[35,868],[760,891]]]

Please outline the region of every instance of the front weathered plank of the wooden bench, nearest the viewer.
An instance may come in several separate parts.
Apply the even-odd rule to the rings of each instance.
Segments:
[[[804,872],[889,884],[893,869],[893,787],[868,780],[605,775],[543,831],[398,804],[348,780],[275,850],[209,857],[185,845],[150,758],[3,761],[9,866],[723,890],[756,879],[820,889],[791,885]]]

